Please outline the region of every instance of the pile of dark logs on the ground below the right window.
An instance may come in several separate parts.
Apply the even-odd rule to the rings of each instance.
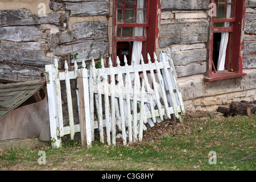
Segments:
[[[228,107],[218,107],[217,111],[219,113],[228,115],[251,115],[256,113],[256,104],[254,102],[231,102]]]

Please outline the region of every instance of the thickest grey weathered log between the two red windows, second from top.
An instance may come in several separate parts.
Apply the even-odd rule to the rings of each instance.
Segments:
[[[165,22],[160,25],[160,47],[171,44],[193,44],[208,41],[209,22]]]

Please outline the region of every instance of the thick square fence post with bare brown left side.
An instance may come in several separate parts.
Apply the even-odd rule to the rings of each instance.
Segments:
[[[87,69],[78,71],[77,82],[79,85],[80,102],[80,125],[81,125],[81,144],[82,146],[91,146],[92,134],[90,126],[90,105],[89,105],[89,85]]]

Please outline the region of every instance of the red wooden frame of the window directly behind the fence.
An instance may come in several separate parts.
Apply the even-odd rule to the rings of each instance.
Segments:
[[[137,9],[137,6],[135,6]],[[113,39],[112,39],[112,60],[116,66],[117,42],[143,42],[142,55],[158,52],[160,32],[160,0],[147,0],[147,21],[145,23],[119,23],[117,22],[118,0],[113,0]],[[136,18],[137,16],[135,16]],[[145,27],[144,36],[117,36],[117,27]],[[144,59],[147,62],[147,59]]]

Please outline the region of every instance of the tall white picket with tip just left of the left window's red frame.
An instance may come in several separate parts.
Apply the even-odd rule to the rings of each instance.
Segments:
[[[112,123],[112,144],[115,146],[115,77],[113,71],[113,63],[111,57],[109,57],[109,69],[110,69],[110,92],[111,92],[111,123]]]

